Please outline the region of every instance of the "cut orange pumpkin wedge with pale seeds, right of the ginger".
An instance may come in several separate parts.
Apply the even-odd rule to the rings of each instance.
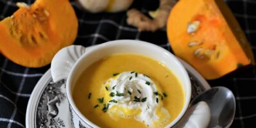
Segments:
[[[189,31],[191,24],[195,31]],[[205,79],[255,64],[252,48],[223,0],[178,1],[167,20],[167,36],[176,56]]]

